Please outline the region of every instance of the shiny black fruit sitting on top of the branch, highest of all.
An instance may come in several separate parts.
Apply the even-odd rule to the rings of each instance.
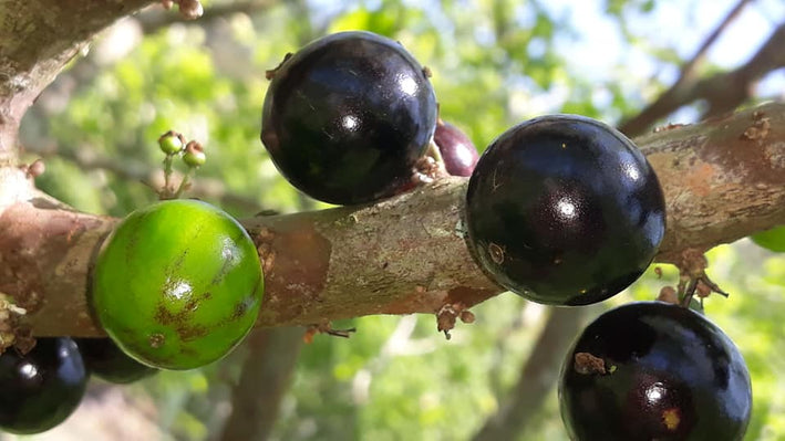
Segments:
[[[306,195],[337,204],[393,196],[409,183],[436,125],[436,97],[403,46],[370,32],[306,45],[275,71],[261,140]]]

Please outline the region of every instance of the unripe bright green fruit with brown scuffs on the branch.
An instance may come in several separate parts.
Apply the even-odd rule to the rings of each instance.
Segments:
[[[123,351],[177,370],[234,349],[264,290],[256,246],[234,218],[202,201],[167,200],[128,214],[106,240],[92,302]]]

